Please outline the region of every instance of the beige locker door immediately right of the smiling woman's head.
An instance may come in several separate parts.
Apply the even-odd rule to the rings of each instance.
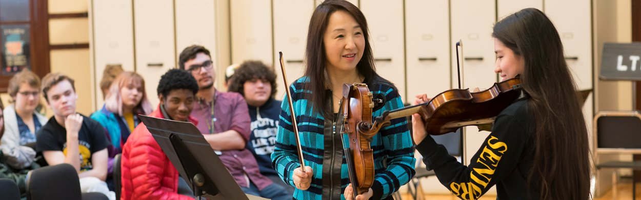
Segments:
[[[394,83],[405,100],[403,1],[362,1],[360,9],[369,26],[376,72]]]

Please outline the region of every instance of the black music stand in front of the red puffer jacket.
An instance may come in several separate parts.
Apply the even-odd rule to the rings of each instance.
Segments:
[[[244,194],[194,124],[138,116],[197,199],[264,199]]]

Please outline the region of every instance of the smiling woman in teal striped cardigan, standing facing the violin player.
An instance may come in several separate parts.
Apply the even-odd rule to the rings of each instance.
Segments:
[[[415,158],[407,121],[394,119],[370,142],[374,180],[367,192],[350,192],[341,134],[335,130],[345,83],[366,83],[374,96],[387,101],[383,110],[403,107],[392,83],[374,70],[365,16],[344,0],[319,4],[310,20],[303,78],[289,86],[304,157],[301,169],[292,113],[283,101],[272,164],[285,183],[296,187],[294,199],[392,199],[414,175]],[[289,98],[286,96],[285,99]],[[304,171],[304,172],[303,172]]]

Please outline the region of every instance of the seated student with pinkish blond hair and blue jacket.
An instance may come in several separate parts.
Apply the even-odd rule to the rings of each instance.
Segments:
[[[145,93],[145,80],[136,72],[122,72],[114,80],[104,99],[104,106],[91,114],[91,119],[106,130],[109,154],[107,184],[113,187],[113,157],[122,153],[122,145],[138,126],[138,114],[151,113],[151,104]]]

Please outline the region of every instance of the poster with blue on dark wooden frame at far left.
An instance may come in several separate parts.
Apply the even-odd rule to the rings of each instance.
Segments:
[[[1,58],[3,76],[12,76],[24,68],[31,69],[29,54],[29,24],[7,24],[0,26]]]

